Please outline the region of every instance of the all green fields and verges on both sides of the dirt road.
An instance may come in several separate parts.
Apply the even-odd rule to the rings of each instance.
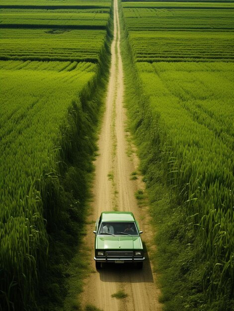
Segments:
[[[234,2],[121,4],[163,308],[233,311]],[[111,0],[0,2],[0,311],[63,310],[112,23]]]

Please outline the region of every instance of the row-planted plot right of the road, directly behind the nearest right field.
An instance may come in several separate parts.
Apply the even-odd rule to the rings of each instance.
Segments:
[[[233,34],[209,31],[130,31],[137,61],[233,60]]]

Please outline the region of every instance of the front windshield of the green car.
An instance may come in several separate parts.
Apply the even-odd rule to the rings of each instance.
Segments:
[[[138,235],[135,223],[103,222],[98,234],[110,235]]]

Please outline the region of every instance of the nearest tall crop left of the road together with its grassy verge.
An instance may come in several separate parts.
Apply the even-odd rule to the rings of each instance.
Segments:
[[[95,150],[93,92],[110,33],[98,39],[95,65],[0,62],[0,310],[63,304],[64,266],[84,220]]]

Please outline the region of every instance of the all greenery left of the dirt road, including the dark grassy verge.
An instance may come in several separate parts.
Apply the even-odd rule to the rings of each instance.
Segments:
[[[73,278],[68,262],[83,234],[111,2],[91,11],[82,1],[83,11],[61,2],[53,12],[35,5],[0,11],[8,27],[0,39],[0,310],[63,308]],[[10,29],[21,21],[28,29]],[[66,29],[86,24],[92,29]],[[74,270],[82,276],[82,269],[81,262]]]

